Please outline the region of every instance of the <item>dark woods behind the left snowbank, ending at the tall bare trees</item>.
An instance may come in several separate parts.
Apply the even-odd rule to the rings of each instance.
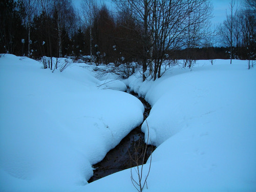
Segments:
[[[77,12],[71,0],[1,1],[0,52],[33,58],[90,55],[104,63],[138,57],[140,42],[133,39],[141,34],[132,17],[124,12],[114,17],[95,1],[81,6]]]

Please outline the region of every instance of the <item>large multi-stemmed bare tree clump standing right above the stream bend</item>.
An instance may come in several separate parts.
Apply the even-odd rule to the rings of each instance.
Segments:
[[[198,37],[202,38],[202,34],[205,34],[201,30],[202,24],[206,22],[211,13],[208,0],[113,0],[113,2],[119,7],[124,6],[130,9],[141,26],[143,80],[146,78],[147,68],[150,69],[149,75],[152,75],[154,79],[161,77],[162,64],[169,58],[168,51],[182,48],[185,45],[188,24],[193,29],[191,34],[194,34],[194,42],[197,42]],[[192,13],[194,13],[193,17],[188,19]],[[194,22],[193,25],[191,22]]]

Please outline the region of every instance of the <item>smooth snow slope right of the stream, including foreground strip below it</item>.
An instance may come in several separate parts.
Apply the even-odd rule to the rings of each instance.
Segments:
[[[158,147],[143,191],[256,191],[256,70],[247,61],[202,60],[126,84],[153,106],[147,123]],[[80,191],[136,191],[130,176],[123,170]]]

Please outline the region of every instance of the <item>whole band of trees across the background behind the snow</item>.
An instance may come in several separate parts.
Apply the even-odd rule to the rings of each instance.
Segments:
[[[160,77],[169,59],[185,59],[184,67],[195,59],[255,59],[254,1],[236,11],[233,1],[231,15],[213,32],[210,0],[112,0],[115,13],[95,0],[83,0],[79,11],[71,0],[3,0],[0,52],[116,66],[136,61],[143,79]],[[214,47],[217,35],[226,48]]]

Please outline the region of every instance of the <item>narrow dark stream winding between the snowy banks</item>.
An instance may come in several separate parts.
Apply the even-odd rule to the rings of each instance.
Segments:
[[[145,99],[138,96],[138,94],[134,92],[130,92],[130,89],[127,89],[127,93],[130,93],[137,97],[144,105],[144,120],[150,114],[151,105],[148,104]],[[134,158],[136,153],[140,155],[145,148],[145,140],[144,133],[141,132],[141,125],[137,126],[133,129],[126,137],[124,137],[120,143],[109,151],[104,159],[97,164],[94,164],[95,168],[93,171],[93,176],[88,181],[89,183],[96,181],[102,177],[114,174],[119,172],[120,170],[124,170],[127,168],[131,168],[136,166],[135,162],[131,160],[131,157]],[[135,150],[135,146],[136,149]],[[155,150],[155,146],[147,145],[146,155],[144,158],[144,162],[142,162],[143,156],[139,160],[139,164],[146,163],[148,157],[150,157],[151,153]]]

